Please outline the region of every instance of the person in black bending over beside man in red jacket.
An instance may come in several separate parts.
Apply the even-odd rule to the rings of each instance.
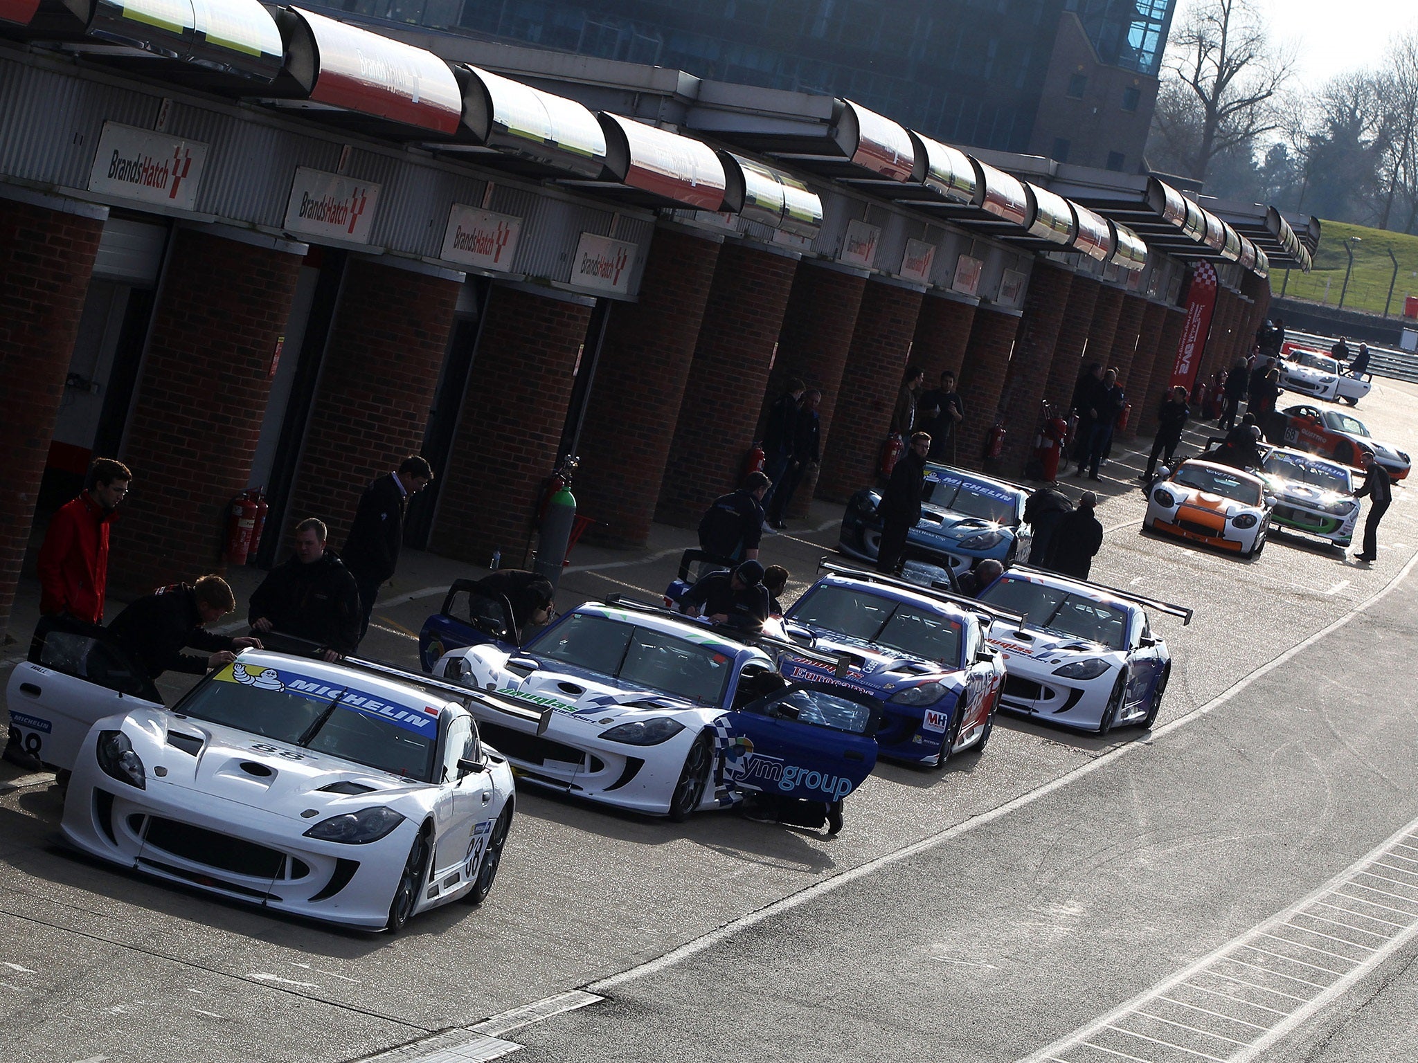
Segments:
[[[220,575],[203,575],[194,584],[174,583],[143,595],[118,614],[108,629],[149,679],[163,672],[200,676],[230,665],[240,649],[261,649],[258,638],[230,638],[207,631],[207,624],[216,624],[235,608],[237,600],[227,581]],[[183,653],[184,646],[204,655]]]

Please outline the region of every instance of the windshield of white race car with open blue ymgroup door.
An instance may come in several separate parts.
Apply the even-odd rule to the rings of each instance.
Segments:
[[[733,670],[733,658],[713,646],[580,612],[549,628],[527,652],[703,704],[719,704]]]

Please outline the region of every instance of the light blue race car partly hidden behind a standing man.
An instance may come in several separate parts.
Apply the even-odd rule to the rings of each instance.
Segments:
[[[882,520],[881,492],[856,492],[842,514],[837,549],[848,557],[875,561]],[[926,497],[920,520],[906,536],[906,557],[934,561],[957,575],[993,557],[1008,567],[1021,550],[1020,524],[1029,489],[978,472],[926,463]]]

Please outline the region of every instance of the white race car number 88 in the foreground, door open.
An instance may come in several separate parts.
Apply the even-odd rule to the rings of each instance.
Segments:
[[[488,896],[512,822],[512,770],[447,693],[393,669],[245,651],[167,710],[102,686],[113,651],[82,639],[51,632],[51,652],[38,646],[7,690],[21,743],[43,736],[27,744],[72,771],[62,821],[72,845],[366,930]],[[44,744],[57,734],[60,747]]]

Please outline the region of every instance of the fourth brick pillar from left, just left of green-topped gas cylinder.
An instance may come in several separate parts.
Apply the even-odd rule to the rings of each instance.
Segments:
[[[442,471],[430,550],[472,564],[486,564],[501,550],[506,567],[527,564],[533,507],[559,456],[576,353],[590,320],[587,299],[493,286]],[[580,500],[579,483],[573,490]]]

